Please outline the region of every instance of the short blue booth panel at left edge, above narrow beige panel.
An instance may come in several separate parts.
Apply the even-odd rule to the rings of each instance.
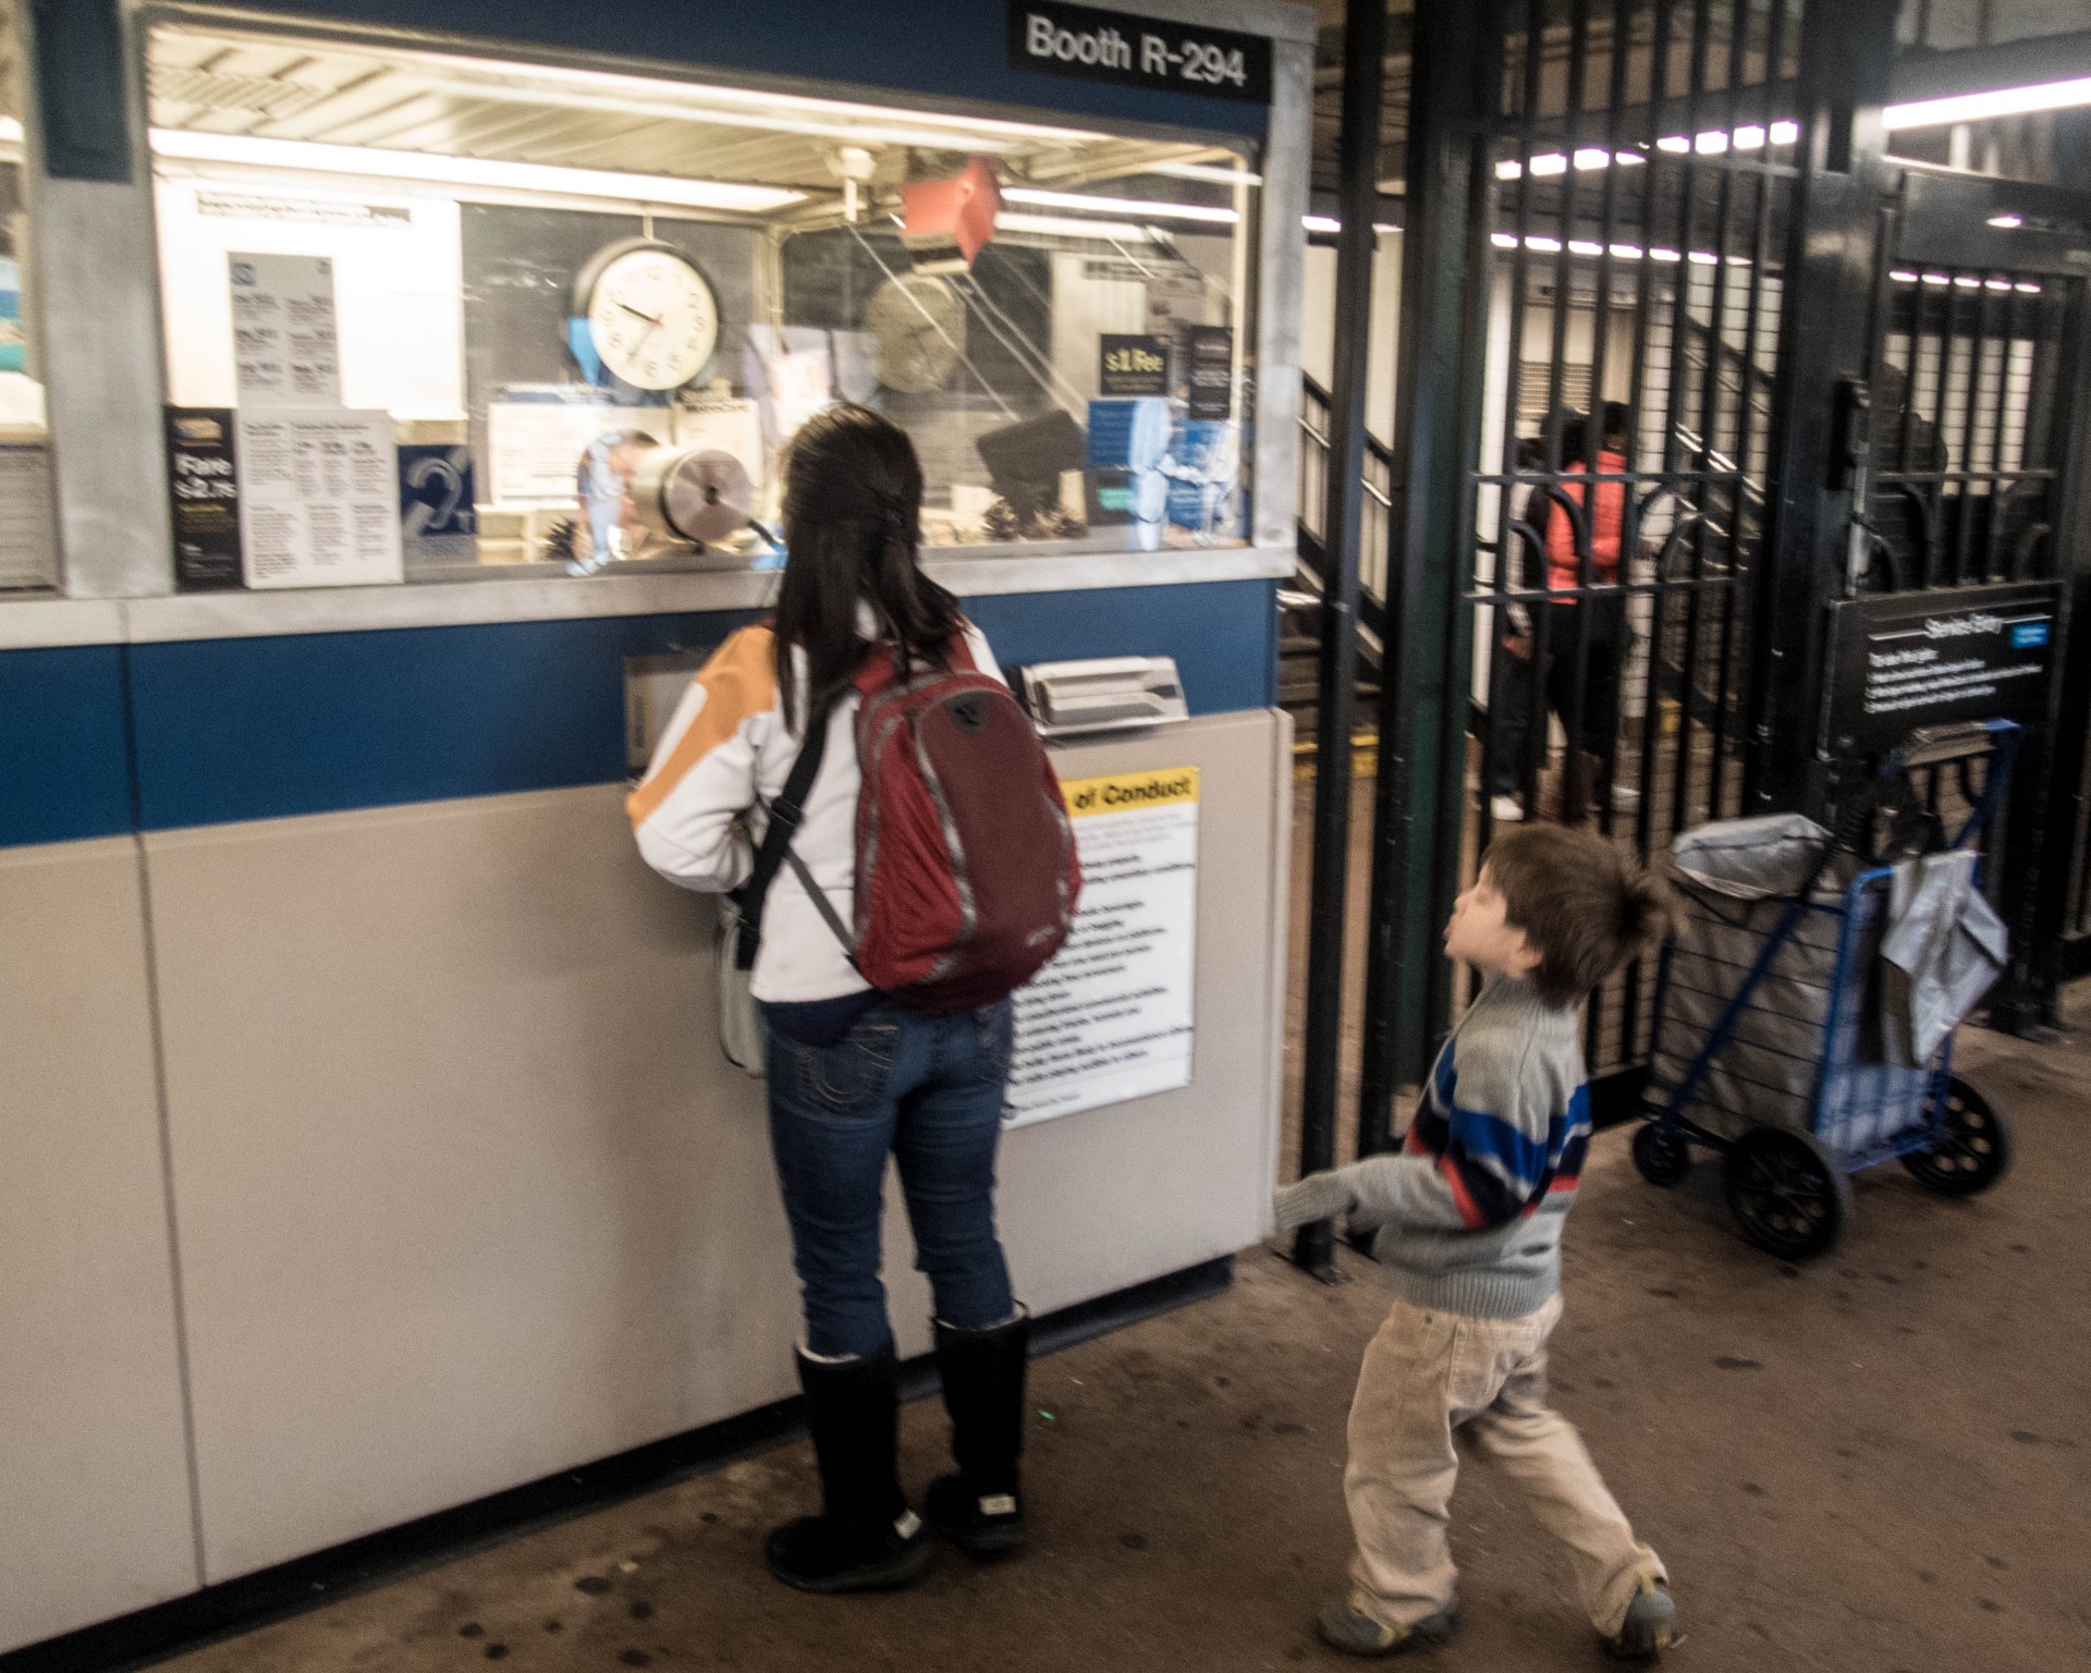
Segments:
[[[130,828],[123,650],[0,650],[0,847]]]

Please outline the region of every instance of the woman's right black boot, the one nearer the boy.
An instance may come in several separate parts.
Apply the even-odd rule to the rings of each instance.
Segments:
[[[1020,1550],[1025,1499],[1016,1456],[1025,1445],[1031,1315],[1018,1309],[1014,1320],[989,1330],[953,1330],[941,1320],[930,1324],[958,1474],[930,1483],[928,1520],[970,1556]]]

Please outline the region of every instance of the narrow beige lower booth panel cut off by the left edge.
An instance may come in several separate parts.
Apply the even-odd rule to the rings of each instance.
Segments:
[[[0,853],[0,1652],[201,1583],[138,847]]]

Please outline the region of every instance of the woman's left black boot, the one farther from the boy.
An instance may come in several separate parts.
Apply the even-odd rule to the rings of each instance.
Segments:
[[[797,1357],[822,1512],[772,1531],[763,1545],[769,1573],[801,1591],[907,1585],[930,1552],[895,1470],[901,1405],[893,1349],[841,1363]]]

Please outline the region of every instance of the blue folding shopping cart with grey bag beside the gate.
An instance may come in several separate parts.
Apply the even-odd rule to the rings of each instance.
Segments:
[[[1901,1161],[1947,1196],[2003,1177],[2009,1127],[1953,1073],[1953,1027],[2005,964],[1978,845],[2016,753],[2012,721],[1913,732],[1834,832],[1773,813],[1677,839],[1641,1177],[1675,1186],[1715,1150],[1744,1236],[1784,1259],[1842,1236],[1863,1167]]]

